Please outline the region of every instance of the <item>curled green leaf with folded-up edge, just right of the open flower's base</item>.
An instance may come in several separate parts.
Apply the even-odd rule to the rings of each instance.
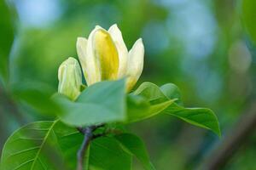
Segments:
[[[159,114],[176,99],[168,99],[158,86],[143,82],[127,98],[127,122],[137,122]]]

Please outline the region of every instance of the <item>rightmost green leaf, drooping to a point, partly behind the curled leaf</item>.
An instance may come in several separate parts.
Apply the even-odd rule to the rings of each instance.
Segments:
[[[166,84],[160,88],[163,94],[169,99],[180,98],[179,89],[172,85]],[[189,122],[192,125],[207,128],[212,130],[213,133],[221,135],[218,118],[215,116],[212,110],[207,108],[184,108],[176,103],[166,108],[164,113],[172,116],[177,116],[185,122]]]

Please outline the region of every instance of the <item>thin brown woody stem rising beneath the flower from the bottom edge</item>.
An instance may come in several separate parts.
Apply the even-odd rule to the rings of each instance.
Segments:
[[[88,146],[90,144],[90,140],[93,137],[93,130],[95,127],[85,127],[84,128],[84,141],[78,151],[78,170],[84,170],[84,156],[86,153],[86,150],[88,149]]]

